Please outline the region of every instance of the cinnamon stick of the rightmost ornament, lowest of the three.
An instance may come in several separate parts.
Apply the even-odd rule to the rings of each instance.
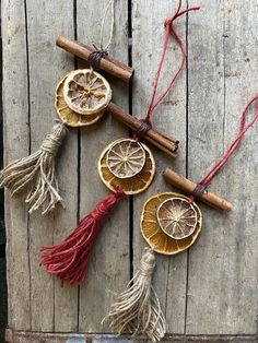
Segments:
[[[167,181],[167,184],[175,186],[176,188],[183,190],[188,194],[192,194],[192,191],[196,188],[196,184],[191,180],[185,178],[183,175],[175,173],[174,170],[166,168],[163,172],[163,177]],[[203,194],[199,198],[206,204],[223,211],[231,211],[233,210],[233,205],[227,202],[226,200],[218,197],[212,192],[204,191]]]

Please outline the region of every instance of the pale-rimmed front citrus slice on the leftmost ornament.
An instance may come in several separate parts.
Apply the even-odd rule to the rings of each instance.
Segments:
[[[71,72],[63,84],[63,96],[67,105],[80,115],[97,114],[112,99],[109,83],[91,69],[79,69]]]

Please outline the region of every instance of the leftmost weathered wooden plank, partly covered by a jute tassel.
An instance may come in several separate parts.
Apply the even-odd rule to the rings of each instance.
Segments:
[[[28,153],[27,56],[23,1],[2,1],[4,164]],[[27,211],[5,196],[9,326],[31,329]]]

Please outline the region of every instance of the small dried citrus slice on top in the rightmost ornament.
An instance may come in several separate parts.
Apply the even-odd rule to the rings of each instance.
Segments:
[[[190,236],[198,222],[192,203],[183,198],[169,198],[163,201],[156,211],[161,229],[174,239]]]

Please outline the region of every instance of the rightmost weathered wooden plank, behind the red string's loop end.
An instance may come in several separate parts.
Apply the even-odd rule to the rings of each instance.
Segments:
[[[258,68],[258,2],[200,4],[202,15],[189,17],[188,39],[188,165],[197,180],[232,141],[246,100],[257,92]],[[223,215],[202,206],[204,227],[189,255],[189,334],[257,332],[256,146],[251,130],[211,186],[234,211]]]

